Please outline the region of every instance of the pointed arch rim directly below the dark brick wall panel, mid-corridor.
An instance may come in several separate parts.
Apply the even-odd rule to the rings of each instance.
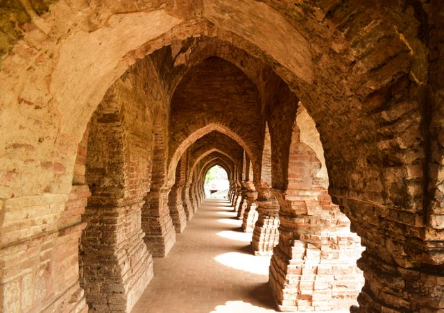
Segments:
[[[176,174],[175,171],[180,156],[189,148],[189,146],[191,146],[191,144],[196,142],[197,139],[203,137],[204,135],[207,135],[208,133],[211,133],[214,130],[219,131],[219,133],[223,133],[224,135],[228,135],[228,137],[234,139],[234,141],[236,141],[246,151],[246,153],[250,157],[250,160],[253,160],[253,163],[257,162],[257,159],[254,157],[254,154],[252,153],[250,147],[246,144],[244,139],[234,133],[234,131],[221,124],[208,124],[207,126],[200,128],[189,135],[189,137],[187,137],[187,139],[185,139],[172,154],[173,156],[171,158],[171,161],[169,162],[168,167],[168,178],[170,184],[174,181],[174,176]]]

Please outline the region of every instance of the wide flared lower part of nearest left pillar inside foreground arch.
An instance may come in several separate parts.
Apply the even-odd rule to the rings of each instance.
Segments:
[[[130,312],[153,277],[153,260],[140,227],[144,201],[88,206],[80,240],[80,286],[89,310]]]

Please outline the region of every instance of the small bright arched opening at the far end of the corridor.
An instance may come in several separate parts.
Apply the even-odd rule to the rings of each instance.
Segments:
[[[205,198],[228,198],[228,174],[219,164],[210,167],[205,173]]]

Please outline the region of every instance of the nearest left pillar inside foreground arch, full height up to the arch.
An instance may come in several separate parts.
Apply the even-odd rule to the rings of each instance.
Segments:
[[[141,74],[146,71],[135,69],[126,78],[133,81],[133,93],[128,93],[128,81],[114,85],[85,133],[85,176],[92,196],[82,217],[86,228],[80,239],[79,276],[93,311],[127,312],[153,276],[141,228],[142,199],[151,178],[151,160],[142,155],[151,154],[153,136],[140,126],[153,111],[144,106],[144,86],[136,85]],[[131,101],[138,106],[127,110],[124,105]],[[84,159],[81,146],[79,159]],[[83,169],[80,164],[78,168]],[[81,181],[80,175],[74,176],[76,180]]]

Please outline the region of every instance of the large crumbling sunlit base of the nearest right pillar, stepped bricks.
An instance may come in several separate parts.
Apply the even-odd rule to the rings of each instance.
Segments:
[[[350,221],[326,190],[287,190],[278,201],[269,283],[279,310],[348,310],[363,284],[356,264],[362,248]]]

